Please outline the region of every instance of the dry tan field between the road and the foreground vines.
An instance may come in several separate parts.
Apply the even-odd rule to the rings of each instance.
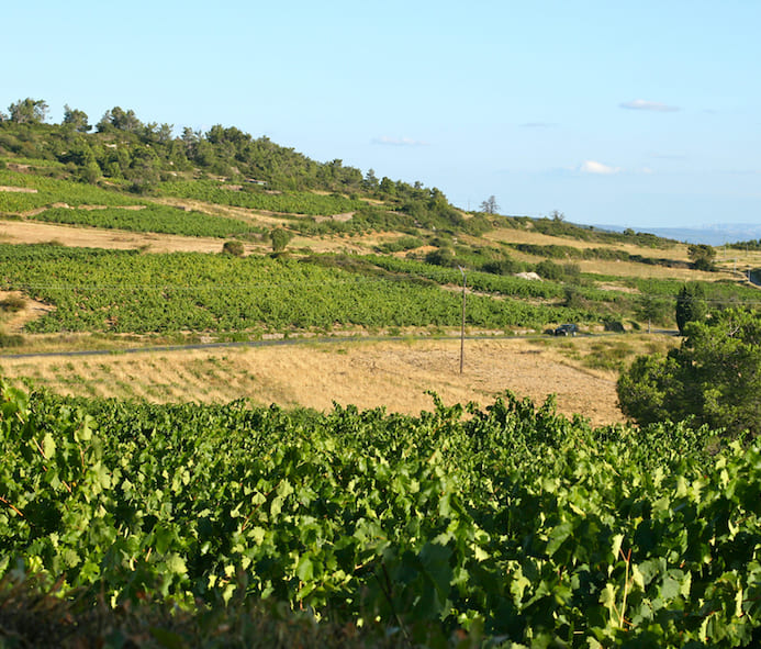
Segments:
[[[433,407],[427,391],[445,404],[472,401],[485,406],[510,390],[537,405],[555,394],[559,412],[581,414],[595,425],[620,423],[617,373],[592,370],[581,361],[595,354],[593,340],[467,340],[462,374],[456,339],[0,357],[0,372],[11,381],[31,380],[82,396],[153,402],[247,399],[320,411],[336,402],[409,414]]]

